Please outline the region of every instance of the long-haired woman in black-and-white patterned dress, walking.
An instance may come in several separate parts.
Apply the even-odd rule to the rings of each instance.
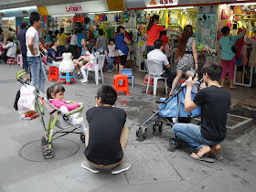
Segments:
[[[193,36],[192,26],[184,27],[183,33],[177,45],[177,55],[179,57],[176,66],[176,78],[173,81],[170,94],[176,89],[178,80],[184,72],[191,69],[198,69],[197,65],[197,41]],[[196,65],[196,66],[195,66]]]

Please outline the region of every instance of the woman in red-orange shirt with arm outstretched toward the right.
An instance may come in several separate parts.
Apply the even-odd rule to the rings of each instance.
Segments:
[[[176,31],[172,28],[165,28],[162,26],[158,26],[157,23],[159,22],[159,16],[154,15],[150,18],[149,24],[146,28],[145,37],[147,37],[146,41],[146,54],[148,54],[151,50],[154,50],[154,42],[156,39],[159,38],[161,31],[172,31],[178,34],[181,34],[179,31]]]

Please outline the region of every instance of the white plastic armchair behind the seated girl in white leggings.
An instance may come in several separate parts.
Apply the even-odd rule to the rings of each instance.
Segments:
[[[103,65],[104,65],[105,58],[106,58],[105,55],[99,55],[99,56],[95,57],[95,59],[93,60],[93,67],[87,69],[87,77],[88,77],[89,71],[92,71],[95,73],[94,76],[95,76],[96,85],[99,84],[99,70],[101,70],[101,80],[102,80],[102,83],[104,83]]]

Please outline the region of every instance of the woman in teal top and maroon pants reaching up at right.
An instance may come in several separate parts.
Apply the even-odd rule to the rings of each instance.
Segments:
[[[222,37],[219,39],[219,47],[221,48],[221,67],[222,73],[220,76],[220,85],[224,87],[224,80],[227,69],[229,68],[229,89],[235,89],[234,82],[234,69],[236,65],[236,53],[232,51],[232,46],[235,45],[240,37],[245,34],[245,28],[242,29],[242,33],[238,36],[229,36],[229,27],[222,27]]]

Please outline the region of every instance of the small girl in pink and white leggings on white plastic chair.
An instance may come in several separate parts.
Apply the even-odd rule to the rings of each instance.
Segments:
[[[83,77],[83,79],[82,80],[80,80],[80,82],[83,82],[83,83],[87,83],[88,82],[88,77],[87,77],[87,75],[86,75],[86,71],[87,71],[87,69],[89,69],[89,68],[93,68],[93,60],[94,60],[94,56],[93,56],[93,54],[92,54],[92,45],[90,44],[90,45],[87,45],[86,47],[85,47],[85,50],[86,50],[86,54],[85,54],[85,56],[80,56],[80,57],[82,57],[82,60],[83,60],[83,63],[84,63],[84,66],[82,66],[81,68],[80,68],[80,72],[81,72],[81,74],[82,74],[82,77]],[[87,63],[86,63],[87,62]]]

